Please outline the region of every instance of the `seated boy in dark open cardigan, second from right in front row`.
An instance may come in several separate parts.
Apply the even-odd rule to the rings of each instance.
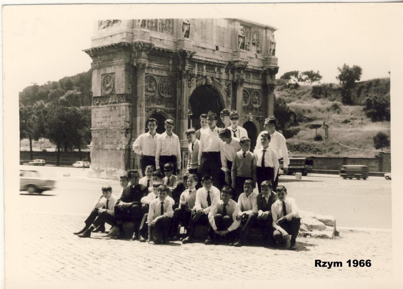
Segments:
[[[277,195],[272,191],[272,183],[263,181],[260,184],[262,193],[256,197],[258,204],[258,217],[256,223],[262,232],[263,242],[266,246],[274,245],[272,204],[276,202]]]

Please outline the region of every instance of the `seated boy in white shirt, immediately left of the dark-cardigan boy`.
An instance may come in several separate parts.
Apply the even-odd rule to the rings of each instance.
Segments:
[[[242,229],[239,239],[234,244],[235,247],[241,247],[245,244],[249,230],[256,221],[258,214],[256,198],[257,195],[253,193],[252,181],[246,180],[245,183],[243,183],[243,193],[241,193],[238,198],[239,214],[237,220],[241,221]]]

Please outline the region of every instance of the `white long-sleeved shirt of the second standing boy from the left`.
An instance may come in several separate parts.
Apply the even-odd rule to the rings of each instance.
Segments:
[[[160,168],[160,156],[176,156],[177,167],[179,170],[181,169],[181,145],[179,143],[179,137],[177,135],[172,133],[172,135],[169,136],[166,131],[164,131],[164,133],[162,133],[162,135],[158,137],[157,150],[155,155],[155,166],[157,170]]]

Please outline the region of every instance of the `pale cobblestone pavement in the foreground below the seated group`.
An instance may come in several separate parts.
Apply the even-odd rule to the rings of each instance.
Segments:
[[[392,232],[340,230],[335,239],[297,238],[297,250],[257,246],[154,245],[73,235],[85,216],[21,214],[21,260],[12,270],[24,281],[195,281],[390,277]],[[6,251],[7,252],[7,251]],[[315,260],[341,261],[343,267],[316,268]],[[347,260],[371,260],[370,267],[348,267]],[[187,261],[189,260],[189,261]],[[260,264],[268,264],[261,266]],[[213,264],[213,266],[212,266]],[[275,266],[276,273],[268,274]],[[108,272],[108,274],[105,274]],[[153,272],[158,272],[154,274]]]

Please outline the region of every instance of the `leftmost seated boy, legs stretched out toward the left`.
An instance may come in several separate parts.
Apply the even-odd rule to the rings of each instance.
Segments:
[[[89,238],[91,237],[91,231],[105,224],[105,222],[112,226],[117,225],[114,217],[114,206],[117,200],[116,196],[112,195],[112,187],[110,185],[103,185],[102,196],[98,198],[91,214],[84,221],[85,227],[81,231],[74,233],[74,235]]]

